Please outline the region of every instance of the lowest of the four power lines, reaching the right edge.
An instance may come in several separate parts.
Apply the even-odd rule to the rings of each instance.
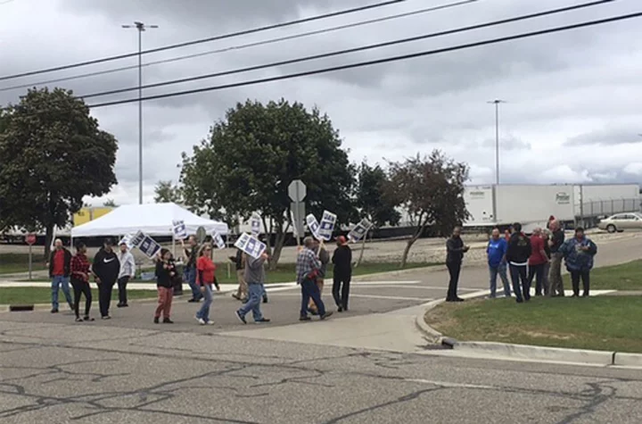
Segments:
[[[457,46],[450,46],[450,47],[444,47],[436,50],[428,50],[424,52],[419,52],[419,53],[414,53],[414,54],[403,54],[400,56],[391,56],[391,57],[386,57],[383,59],[377,59],[374,61],[366,61],[366,62],[356,62],[356,63],[350,63],[346,65],[340,65],[340,66],[333,66],[331,68],[324,68],[320,70],[314,70],[314,71],[304,71],[304,72],[297,72],[297,73],[292,73],[292,74],[287,74],[287,75],[280,75],[278,77],[271,77],[271,78],[264,78],[264,79],[251,79],[249,81],[241,81],[241,82],[236,82],[232,84],[225,84],[221,86],[212,86],[212,87],[202,87],[202,88],[196,88],[193,90],[185,90],[185,91],[177,91],[173,93],[165,93],[161,95],[154,95],[154,96],[146,96],[143,97],[143,101],[148,101],[148,100],[158,100],[162,98],[168,98],[168,97],[176,97],[176,96],[187,96],[187,95],[193,95],[193,94],[198,94],[198,93],[204,93],[208,91],[215,91],[215,90],[222,90],[226,88],[235,88],[235,87],[245,87],[245,86],[251,86],[251,85],[257,85],[257,84],[264,84],[268,82],[274,82],[274,81],[280,81],[284,79],[294,79],[294,78],[300,78],[300,77],[309,77],[312,75],[318,75],[318,74],[323,74],[323,73],[328,73],[328,72],[334,72],[334,71],[346,71],[350,69],[356,69],[356,68],[363,68],[366,66],[373,66],[377,64],[382,64],[382,63],[389,63],[389,62],[399,62],[399,61],[405,61],[408,59],[415,59],[417,57],[424,57],[424,56],[430,56],[433,54],[442,54],[442,53],[449,53],[449,52],[454,52],[457,50],[465,50],[467,48],[473,48],[473,47],[479,47],[479,46],[489,46],[493,44],[498,44],[498,43],[504,43],[506,41],[513,41],[516,39],[521,39],[521,38],[528,38],[528,37],[537,37],[537,36],[542,36],[546,34],[552,34],[556,32],[562,32],[562,31],[567,31],[571,29],[580,29],[580,28],[586,28],[586,27],[591,27],[595,25],[601,25],[609,22],[615,22],[615,21],[624,21],[624,20],[630,20],[634,18],[639,18],[642,17],[642,12],[635,12],[635,13],[629,13],[629,14],[624,14],[624,15],[618,15],[614,16],[612,18],[605,18],[605,19],[600,19],[596,21],[584,21],[572,25],[565,25],[562,27],[554,27],[554,28],[549,28],[549,29],[540,29],[538,31],[531,31],[531,32],[525,32],[522,34],[516,34],[513,36],[506,36],[506,37],[498,37],[498,38],[490,38],[487,40],[483,41],[477,41],[474,43],[467,43],[467,44],[462,44],[462,45],[457,45]],[[112,106],[116,104],[129,104],[133,102],[137,102],[137,98],[132,98],[132,99],[126,99],[126,100],[117,100],[113,102],[105,102],[101,104],[89,104],[88,107],[90,108],[99,108],[99,107],[105,107],[105,106]]]

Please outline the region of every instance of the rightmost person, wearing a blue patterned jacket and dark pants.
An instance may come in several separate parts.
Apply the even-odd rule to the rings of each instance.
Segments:
[[[584,292],[582,297],[588,297],[590,289],[590,270],[593,269],[593,258],[597,254],[597,245],[586,237],[584,229],[575,229],[575,237],[564,242],[560,248],[564,255],[566,270],[571,274],[573,297],[580,295],[580,279]]]

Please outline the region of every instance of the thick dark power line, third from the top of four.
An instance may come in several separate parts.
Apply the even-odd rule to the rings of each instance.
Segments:
[[[399,44],[405,44],[413,41],[418,41],[418,40],[424,40],[427,38],[434,38],[434,37],[443,37],[447,35],[452,35],[452,34],[457,34],[460,32],[466,32],[470,31],[473,29],[483,29],[483,28],[489,28],[489,27],[494,27],[498,25],[503,25],[506,23],[513,23],[516,21],[526,21],[526,20],[531,20],[535,18],[540,18],[542,16],[547,16],[547,15],[552,15],[552,14],[557,14],[557,13],[562,13],[562,12],[571,12],[574,10],[579,10],[579,9],[584,9],[587,7],[592,7],[592,6],[597,6],[600,4],[606,4],[606,3],[611,3],[613,0],[597,0],[594,2],[590,3],[585,3],[585,4],[574,4],[572,6],[567,6],[567,7],[562,7],[558,9],[552,9],[544,12],[535,12],[535,13],[530,13],[526,15],[521,15],[521,16],[515,16],[513,18],[507,18],[504,20],[499,20],[499,21],[490,21],[490,22],[485,22],[481,24],[475,24],[467,27],[460,27],[457,29],[448,29],[445,31],[440,31],[440,32],[433,32],[430,34],[425,34],[422,36],[416,36],[416,37],[408,37],[408,38],[402,38],[398,40],[393,40],[393,41],[386,41],[383,43],[376,43],[372,45],[367,45],[367,46],[360,46],[360,47],[354,47],[354,48],[349,48],[345,50],[340,50],[340,51],[335,51],[335,52],[330,52],[330,53],[325,53],[325,54],[314,54],[310,56],[305,56],[301,58],[296,58],[296,59],[289,59],[281,62],[270,62],[266,64],[261,64],[261,65],[255,65],[255,66],[250,66],[246,68],[241,68],[241,69],[236,69],[236,70],[231,70],[231,71],[220,71],[220,72],[214,72],[214,73],[209,73],[209,74],[204,74],[204,75],[198,75],[195,77],[189,77],[189,78],[183,78],[183,79],[172,79],[169,81],[163,81],[163,82],[158,82],[154,84],[148,84],[143,86],[142,88],[154,88],[154,87],[164,87],[164,86],[170,86],[174,84],[181,84],[185,82],[192,82],[200,79],[210,79],[210,78],[217,78],[217,77],[223,77],[226,75],[233,75],[237,73],[243,73],[243,72],[249,72],[249,71],[259,71],[263,69],[268,69],[268,68],[274,68],[276,66],[284,66],[284,65],[290,65],[293,63],[300,63],[300,62],[309,62],[309,61],[314,61],[317,59],[325,59],[328,57],[333,57],[333,56],[339,56],[342,54],[351,54],[351,53],[357,53],[357,52],[363,52],[366,50],[372,50],[376,48],[381,48],[381,47],[387,47],[387,46],[395,46]],[[128,91],[133,91],[137,90],[138,87],[127,87],[127,88],[119,88],[115,90],[110,90],[110,91],[103,91],[99,93],[92,93],[89,95],[85,96],[78,96],[82,98],[92,98],[92,97],[99,97],[99,96],[111,96],[119,93],[126,93]]]

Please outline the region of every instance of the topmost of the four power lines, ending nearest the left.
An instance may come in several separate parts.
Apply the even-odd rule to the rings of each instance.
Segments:
[[[342,11],[338,12],[329,12],[329,13],[324,13],[324,14],[319,14],[315,16],[310,16],[309,18],[302,18],[298,19],[295,21],[286,21],[286,22],[281,22],[281,23],[276,23],[276,24],[271,24],[263,27],[258,27],[258,28],[253,28],[253,29],[243,29],[241,31],[236,31],[236,32],[231,32],[227,34],[223,34],[220,36],[215,36],[215,37],[207,37],[207,38],[201,38],[198,40],[192,40],[192,41],[185,41],[183,43],[177,43],[169,46],[162,46],[162,47],[157,47],[157,48],[152,48],[149,50],[144,50],[141,52],[141,54],[152,54],[152,53],[158,53],[158,52],[163,52],[166,50],[172,50],[175,48],[180,48],[180,47],[186,47],[186,46],[194,46],[202,43],[209,43],[211,41],[218,41],[226,38],[232,38],[232,37],[240,37],[240,36],[245,36],[249,34],[255,34],[257,32],[262,32],[262,31],[267,31],[269,29],[279,29],[279,28],[284,28],[284,27],[290,27],[292,25],[298,25],[300,23],[307,23],[311,21],[320,21],[324,20],[327,18],[333,18],[336,16],[342,16],[345,14],[350,14],[350,13],[355,13],[355,12],[364,12],[367,10],[372,10],[372,9],[377,9],[380,7],[388,6],[391,4],[399,4],[407,2],[407,0],[388,0],[384,1],[381,3],[375,3],[375,4],[366,4],[365,6],[359,6],[359,7],[353,7],[351,9],[344,9]],[[85,61],[85,62],[77,62],[77,63],[71,63],[69,65],[62,65],[62,66],[54,66],[53,68],[46,68],[43,70],[38,70],[38,71],[28,71],[28,72],[22,72],[22,73],[17,73],[13,75],[5,75],[4,77],[0,77],[0,81],[5,81],[7,79],[16,79],[16,78],[21,78],[21,77],[29,77],[31,75],[39,75],[43,73],[48,73],[48,72],[53,72],[53,71],[64,71],[72,68],[79,68],[81,66],[87,66],[87,65],[93,65],[96,63],[103,63],[103,62],[111,62],[111,61],[117,61],[119,59],[126,59],[128,57],[134,57],[137,56],[138,52],[135,53],[128,53],[128,54],[117,54],[113,56],[107,56],[103,57],[100,59],[94,59],[91,61]]]

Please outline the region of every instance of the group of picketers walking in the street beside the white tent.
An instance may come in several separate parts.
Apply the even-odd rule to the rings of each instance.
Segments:
[[[300,320],[311,320],[310,315],[318,316],[320,320],[329,318],[333,312],[325,308],[321,299],[325,285],[325,276],[330,262],[333,262],[333,300],[338,312],[346,312],[349,307],[350,279],[352,274],[352,254],[345,237],[336,239],[337,247],[332,258],[323,242],[312,237],[306,237],[299,247],[296,261],[296,281],[301,287]],[[210,318],[213,293],[220,291],[216,277],[217,265],[212,260],[213,248],[210,243],[199,245],[196,237],[190,236],[182,242],[184,262],[183,272],[177,268],[177,262],[169,249],[161,248],[153,258],[155,264],[155,279],[158,291],[158,304],[153,313],[156,324],[172,324],[171,309],[175,289],[182,287],[185,281],[192,291],[189,303],[200,303],[194,318],[200,325],[214,323]],[[270,320],[263,316],[261,303],[268,303],[265,289],[267,282],[266,265],[269,260],[267,253],[254,258],[243,251],[237,250],[230,257],[235,262],[238,288],[232,295],[242,303],[235,311],[235,316],[243,324],[247,324],[248,314],[256,323],[267,323]],[[49,258],[49,274],[52,279],[52,313],[60,310],[59,291],[62,289],[70,309],[75,313],[76,320],[93,321],[91,317],[92,291],[90,280],[94,279],[98,289],[98,304],[102,320],[111,319],[111,295],[113,287],[119,290],[117,307],[128,307],[128,282],[136,276],[134,255],[124,242],[119,244],[118,252],[110,238],[104,240],[103,247],[95,254],[92,262],[86,256],[86,245],[79,242],[76,254],[71,255],[60,239],[55,240],[54,249]],[[73,287],[73,298],[70,293],[70,283]],[[86,299],[85,311],[81,316],[79,305],[81,296]]]

